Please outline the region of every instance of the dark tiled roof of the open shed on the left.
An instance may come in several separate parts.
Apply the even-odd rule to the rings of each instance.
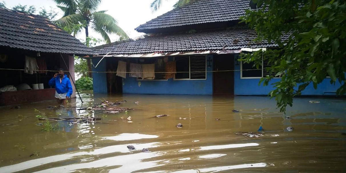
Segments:
[[[0,8],[0,46],[37,52],[97,55],[48,19]]]

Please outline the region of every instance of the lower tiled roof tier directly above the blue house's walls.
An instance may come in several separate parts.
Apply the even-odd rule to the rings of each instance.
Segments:
[[[203,50],[240,50],[241,48],[273,47],[266,41],[254,43],[256,33],[248,29],[224,29],[218,31],[201,31],[197,33],[177,33],[155,35],[136,41],[95,49],[100,55],[107,54],[140,54],[155,52],[187,52]]]

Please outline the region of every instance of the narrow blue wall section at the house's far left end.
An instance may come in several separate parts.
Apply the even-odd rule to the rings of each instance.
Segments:
[[[97,64],[101,58],[92,58],[92,63]],[[106,60],[103,59],[95,69],[92,67],[92,71],[106,71]],[[94,93],[107,93],[107,74],[106,73],[92,73],[93,90]]]

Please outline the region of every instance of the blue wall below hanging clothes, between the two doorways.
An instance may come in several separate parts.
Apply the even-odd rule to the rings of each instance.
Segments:
[[[212,60],[212,57],[211,57]],[[209,62],[207,62],[209,64]],[[207,71],[212,70],[212,63]],[[207,73],[206,80],[137,80],[137,78],[126,77],[122,79],[123,93],[133,94],[199,94],[211,95],[213,93],[213,75]]]

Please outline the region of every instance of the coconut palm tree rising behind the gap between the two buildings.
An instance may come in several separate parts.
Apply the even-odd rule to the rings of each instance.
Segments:
[[[106,14],[107,10],[96,11],[101,0],[54,0],[57,7],[64,12],[61,19],[55,21],[56,24],[64,26],[80,25],[85,29],[86,46],[89,47],[89,26],[100,33],[106,43],[111,43],[109,34],[116,34],[128,39],[127,34],[122,30],[112,16]],[[81,31],[81,30],[79,30]],[[91,71],[91,62],[88,59],[88,68]],[[91,77],[91,73],[89,73]]]

